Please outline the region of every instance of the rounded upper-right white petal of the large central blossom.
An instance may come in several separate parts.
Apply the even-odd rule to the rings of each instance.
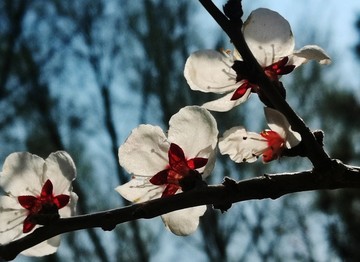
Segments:
[[[169,121],[168,140],[179,145],[186,158],[205,157],[214,151],[217,143],[215,118],[205,108],[187,106]]]

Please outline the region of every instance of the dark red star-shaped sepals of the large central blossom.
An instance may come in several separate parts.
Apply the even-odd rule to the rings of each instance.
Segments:
[[[183,191],[194,188],[201,179],[196,169],[204,167],[208,161],[202,157],[186,159],[184,151],[174,143],[170,144],[168,157],[168,167],[150,178],[153,185],[166,185],[161,197],[174,195],[180,188]]]

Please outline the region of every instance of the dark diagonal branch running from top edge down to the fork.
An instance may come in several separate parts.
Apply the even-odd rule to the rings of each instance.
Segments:
[[[229,20],[211,0],[199,0],[214,20],[220,25],[225,33],[230,37],[231,42],[240,52],[243,61],[247,66],[251,67],[257,79],[257,84],[261,87],[261,91],[271,104],[280,112],[282,112],[292,128],[301,134],[301,138],[305,145],[306,155],[312,162],[315,168],[325,170],[329,166],[331,159],[323,150],[321,145],[316,141],[316,138],[311,133],[310,129],[305,125],[303,120],[294,112],[285,99],[280,95],[278,88],[265,75],[263,68],[259,65],[256,58],[251,53],[248,45],[245,42],[242,34],[242,21]],[[238,1],[239,4],[241,1]],[[239,6],[241,8],[241,6]]]

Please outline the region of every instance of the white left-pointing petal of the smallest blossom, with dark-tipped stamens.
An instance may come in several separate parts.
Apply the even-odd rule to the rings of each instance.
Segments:
[[[228,154],[236,163],[255,162],[267,147],[261,135],[246,132],[241,126],[227,130],[219,140],[220,153]]]

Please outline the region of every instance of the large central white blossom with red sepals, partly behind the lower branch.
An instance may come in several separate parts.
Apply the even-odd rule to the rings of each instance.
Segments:
[[[199,106],[182,108],[160,127],[140,125],[119,148],[120,165],[132,175],[116,188],[125,199],[144,202],[191,190],[202,183],[215,164],[218,130],[213,116]],[[162,215],[174,234],[188,235],[199,224],[206,206]]]

